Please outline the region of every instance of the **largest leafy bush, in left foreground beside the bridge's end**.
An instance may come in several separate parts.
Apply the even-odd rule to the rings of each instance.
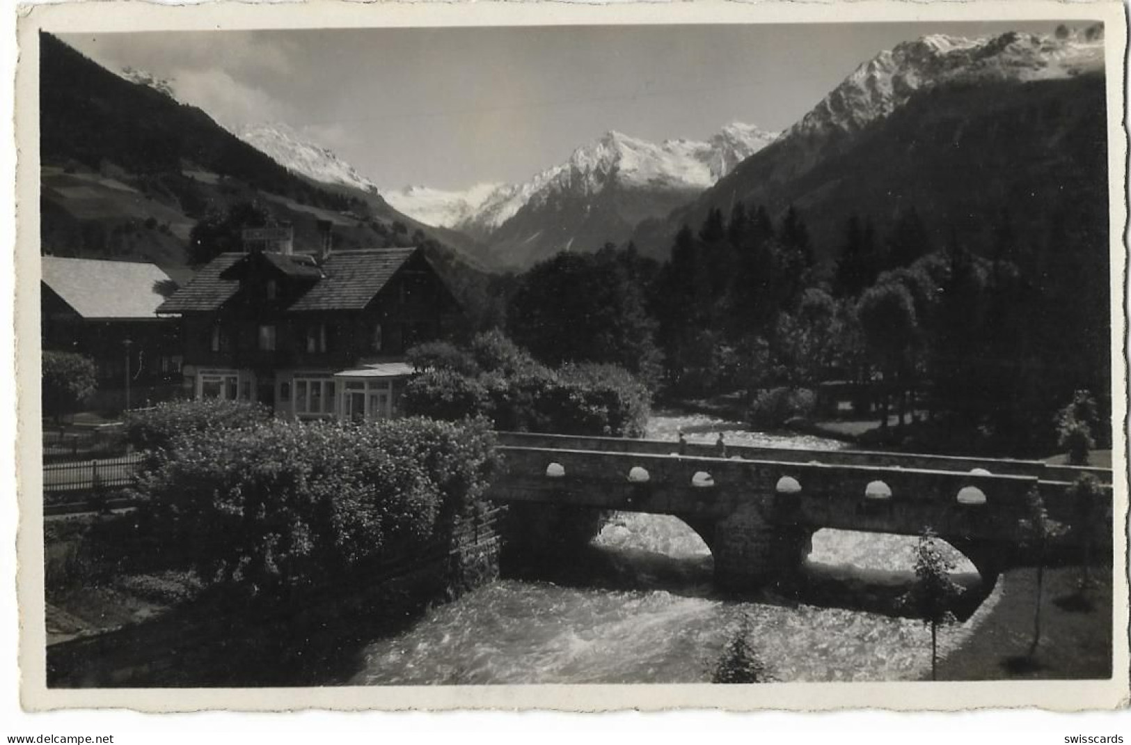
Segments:
[[[443,539],[486,489],[492,446],[485,422],[198,429],[139,476],[139,524],[206,582],[286,597]]]

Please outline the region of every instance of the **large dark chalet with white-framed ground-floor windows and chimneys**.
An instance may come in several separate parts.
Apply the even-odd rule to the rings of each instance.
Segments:
[[[222,254],[159,311],[182,318],[188,395],[297,419],[397,416],[405,351],[461,322],[416,248]]]

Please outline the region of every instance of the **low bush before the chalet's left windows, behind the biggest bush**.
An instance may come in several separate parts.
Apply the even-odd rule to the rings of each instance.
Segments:
[[[126,438],[140,449],[169,447],[176,437],[201,431],[243,429],[266,421],[270,411],[251,401],[170,401],[126,414]]]

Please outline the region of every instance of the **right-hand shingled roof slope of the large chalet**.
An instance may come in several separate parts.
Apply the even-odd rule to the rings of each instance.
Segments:
[[[366,248],[335,251],[322,265],[323,277],[290,310],[361,310],[392,279],[415,248]]]

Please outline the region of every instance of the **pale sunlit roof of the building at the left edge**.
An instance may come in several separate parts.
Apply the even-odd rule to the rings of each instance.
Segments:
[[[43,284],[88,320],[153,319],[176,291],[156,264],[44,256],[41,267]]]

